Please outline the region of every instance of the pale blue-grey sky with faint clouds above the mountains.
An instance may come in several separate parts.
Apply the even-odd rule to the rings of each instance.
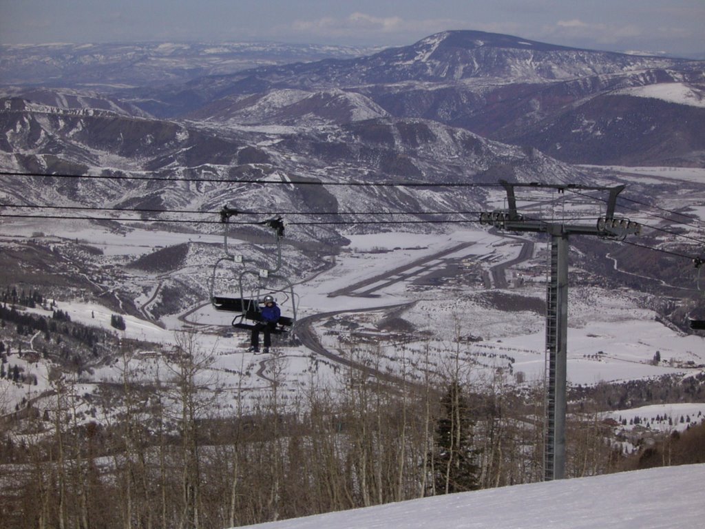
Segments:
[[[0,0],[0,44],[387,47],[444,30],[480,30],[589,49],[705,56],[704,27],[704,0]]]

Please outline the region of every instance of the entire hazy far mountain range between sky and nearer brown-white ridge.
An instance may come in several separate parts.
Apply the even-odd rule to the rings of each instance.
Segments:
[[[135,116],[229,125],[424,118],[588,164],[697,166],[705,147],[699,133],[705,120],[698,103],[705,87],[702,61],[688,59],[477,31],[441,32],[367,55],[362,49],[280,44],[1,51],[4,83],[18,85],[6,88],[6,95],[59,107],[119,106]],[[32,65],[44,66],[35,73]],[[76,90],[89,83],[92,92]],[[110,92],[104,96],[109,102],[96,102],[96,85]]]

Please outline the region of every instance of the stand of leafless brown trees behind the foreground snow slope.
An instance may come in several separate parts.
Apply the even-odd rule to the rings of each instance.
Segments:
[[[157,377],[121,354],[121,384],[96,398],[101,420],[79,420],[81,385],[57,371],[50,408],[23,420],[22,446],[5,436],[1,525],[227,528],[541,480],[541,385],[519,393],[499,370],[478,378],[460,351],[427,358],[441,375],[420,381],[401,363],[398,382],[349,369],[336,381],[311,375],[295,393],[276,358],[269,390],[242,391],[227,415],[192,335]],[[350,354],[379,369],[375,351]],[[571,423],[569,475],[611,461],[596,415]]]

